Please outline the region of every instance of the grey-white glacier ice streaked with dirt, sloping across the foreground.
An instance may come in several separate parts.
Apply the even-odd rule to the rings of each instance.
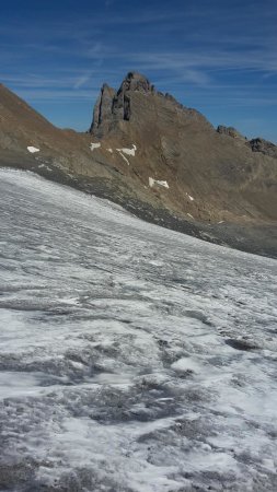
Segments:
[[[0,490],[276,491],[277,262],[0,171]]]

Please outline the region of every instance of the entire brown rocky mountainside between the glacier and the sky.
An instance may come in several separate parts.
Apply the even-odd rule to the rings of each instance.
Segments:
[[[103,85],[88,133],[55,128],[0,85],[1,165],[210,241],[252,250],[254,237],[261,244],[253,250],[265,254],[277,250],[276,151],[233,128],[216,130],[139,73],[128,73],[118,91]]]

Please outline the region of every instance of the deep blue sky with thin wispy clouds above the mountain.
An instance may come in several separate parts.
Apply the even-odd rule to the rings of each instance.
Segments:
[[[277,143],[277,1],[1,2],[0,81],[51,122],[86,130],[126,72],[215,125]]]

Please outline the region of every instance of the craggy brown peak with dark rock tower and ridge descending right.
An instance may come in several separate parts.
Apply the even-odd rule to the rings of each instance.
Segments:
[[[272,192],[270,187],[276,188],[275,161],[273,164],[264,159],[262,148],[252,145],[254,141],[242,136],[239,138],[236,130],[231,132],[227,127],[216,130],[199,112],[186,108],[172,96],[155,91],[149,80],[139,73],[129,72],[118,91],[103,85],[90,133],[102,140],[103,145],[105,139],[117,139],[125,145],[136,142],[143,163],[131,162],[141,181],[146,185],[149,178],[171,180],[168,189],[173,187],[180,204],[177,208],[183,213],[186,211],[200,220],[236,220],[239,215],[245,215],[246,210],[250,220],[251,216],[258,219],[265,215],[277,219],[275,194],[272,197],[274,207],[272,203],[266,206],[265,197],[259,199],[257,196],[261,181],[263,195],[267,197]],[[275,145],[264,142],[263,154],[275,159]],[[269,148],[270,155],[267,152]],[[257,151],[255,155],[253,150]],[[153,176],[147,177],[146,162]],[[220,181],[217,191],[220,189],[221,198],[215,200],[216,181]],[[254,200],[251,198],[253,191],[256,191]],[[195,207],[195,200],[192,200],[195,203],[184,200],[186,194],[193,196],[193,192],[198,195],[198,207]],[[169,191],[163,200],[176,207],[174,200],[169,200]]]

